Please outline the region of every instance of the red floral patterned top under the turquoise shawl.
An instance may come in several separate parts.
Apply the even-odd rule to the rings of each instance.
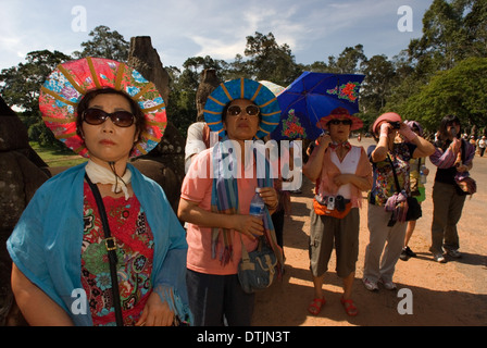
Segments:
[[[135,196],[103,198],[110,229],[117,244],[118,287],[124,325],[134,325],[151,294],[153,236]],[[85,229],[82,247],[82,284],[93,325],[114,325],[110,263],[97,202],[88,184],[84,188]]]

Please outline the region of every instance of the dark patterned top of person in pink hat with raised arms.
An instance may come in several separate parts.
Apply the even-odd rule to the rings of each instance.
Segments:
[[[401,142],[395,144],[389,156],[394,162],[396,174],[398,176],[399,186],[410,196],[410,164],[415,146],[412,144]],[[367,154],[371,159],[375,145],[369,147]],[[371,159],[372,161],[372,159]],[[387,199],[396,191],[396,182],[390,162],[386,159],[382,162],[372,162],[374,182],[370,192],[369,201],[376,206],[385,206]]]

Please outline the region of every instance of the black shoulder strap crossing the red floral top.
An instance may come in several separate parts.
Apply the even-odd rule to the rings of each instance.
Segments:
[[[118,258],[116,257],[115,238],[111,236],[109,220],[107,219],[107,211],[104,210],[103,200],[101,199],[98,186],[91,183],[87,174],[85,174],[85,179],[88,183],[89,187],[91,188],[91,191],[93,192],[101,223],[103,224],[104,245],[107,247],[110,260],[110,276],[112,278],[112,295],[113,295],[113,307],[115,308],[116,326],[123,326],[124,320],[122,315],[122,306],[120,304],[118,278],[116,275],[116,263],[118,262]]]

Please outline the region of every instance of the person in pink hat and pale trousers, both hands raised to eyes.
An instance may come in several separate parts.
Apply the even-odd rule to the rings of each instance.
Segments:
[[[405,200],[411,196],[409,161],[412,158],[430,156],[435,152],[435,147],[415,134],[402,122],[401,116],[394,112],[380,115],[374,122],[372,133],[377,145],[367,149],[374,182],[369,195],[370,241],[365,249],[362,282],[371,291],[378,290],[377,283],[394,290],[396,284],[392,283],[392,275],[401,254],[408,224],[404,219],[392,215],[396,211],[386,211],[385,207],[397,207],[401,199]],[[398,134],[407,141],[395,142]],[[397,190],[395,176],[401,192]],[[396,192],[400,195],[395,196]],[[398,201],[391,202],[395,199]]]

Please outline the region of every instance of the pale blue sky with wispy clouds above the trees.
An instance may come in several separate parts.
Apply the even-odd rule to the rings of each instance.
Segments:
[[[210,55],[232,62],[247,36],[273,33],[296,62],[327,62],[363,45],[389,59],[422,36],[433,0],[0,0],[0,71],[30,51],[72,54],[99,25],[126,41],[150,36],[164,66]]]

